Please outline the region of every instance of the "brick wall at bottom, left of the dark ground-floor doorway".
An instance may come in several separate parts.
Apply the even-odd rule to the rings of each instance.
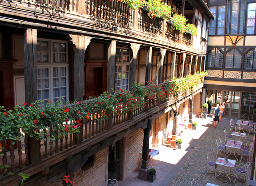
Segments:
[[[106,165],[108,163],[107,154],[108,148],[97,152],[95,157],[96,160],[92,168],[85,172],[80,169],[75,172],[76,186],[105,186]],[[40,186],[63,186],[62,179],[54,184],[44,182]]]

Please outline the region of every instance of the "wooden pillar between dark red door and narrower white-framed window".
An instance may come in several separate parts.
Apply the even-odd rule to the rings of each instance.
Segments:
[[[108,44],[108,71],[107,71],[107,90],[113,93],[111,88],[115,89],[115,68],[116,68],[116,41]]]

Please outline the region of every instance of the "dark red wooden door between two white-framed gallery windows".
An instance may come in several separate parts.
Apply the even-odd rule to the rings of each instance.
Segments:
[[[107,61],[85,61],[85,98],[100,96],[106,91]]]

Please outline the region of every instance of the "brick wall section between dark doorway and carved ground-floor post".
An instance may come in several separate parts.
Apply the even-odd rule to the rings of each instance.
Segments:
[[[126,136],[124,178],[140,166],[138,154],[142,151],[143,137],[142,129]]]

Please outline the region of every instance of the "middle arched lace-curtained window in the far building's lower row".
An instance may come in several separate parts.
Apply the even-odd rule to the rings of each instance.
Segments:
[[[232,48],[226,53],[225,68],[241,68],[242,66],[242,54]]]

